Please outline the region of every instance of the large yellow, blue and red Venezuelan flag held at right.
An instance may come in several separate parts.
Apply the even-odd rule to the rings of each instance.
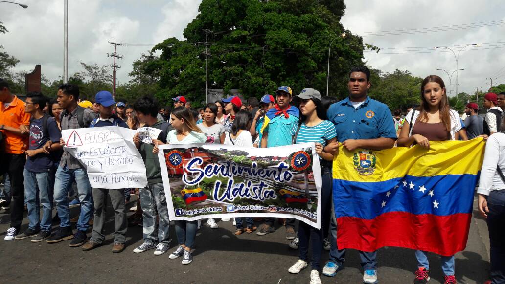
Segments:
[[[432,141],[429,150],[340,147],[333,160],[338,247],[464,250],[484,148],[482,139]]]

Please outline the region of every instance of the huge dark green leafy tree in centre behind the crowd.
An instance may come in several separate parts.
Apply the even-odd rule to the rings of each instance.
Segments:
[[[152,51],[150,74],[158,74],[157,96],[176,94],[205,101],[205,40],[209,34],[209,88],[240,89],[245,97],[289,85],[294,93],[313,87],[325,94],[331,45],[330,94],[346,95],[347,72],[362,64],[361,37],[340,24],[343,0],[203,0],[184,30],[187,40],[169,38]],[[346,32],[344,38],[340,34]],[[375,47],[370,46],[376,50]],[[158,73],[156,73],[158,72]]]

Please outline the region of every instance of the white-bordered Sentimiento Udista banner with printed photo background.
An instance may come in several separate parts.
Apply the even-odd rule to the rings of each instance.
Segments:
[[[321,227],[321,168],[314,143],[159,149],[170,220],[285,217]]]

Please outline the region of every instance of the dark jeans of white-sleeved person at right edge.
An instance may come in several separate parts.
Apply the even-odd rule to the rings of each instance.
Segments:
[[[491,256],[491,281],[505,282],[505,190],[493,190],[487,197],[487,228],[489,230],[489,254]]]

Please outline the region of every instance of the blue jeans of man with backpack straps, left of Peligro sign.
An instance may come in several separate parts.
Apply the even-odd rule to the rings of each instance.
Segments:
[[[81,213],[77,221],[77,230],[88,230],[89,218],[93,214],[93,198],[91,185],[89,184],[86,169],[69,169],[67,166],[58,166],[55,180],[55,202],[58,216],[60,217],[60,227],[70,226],[70,208],[68,206],[67,195],[73,182],[77,184],[79,201],[81,202]]]

